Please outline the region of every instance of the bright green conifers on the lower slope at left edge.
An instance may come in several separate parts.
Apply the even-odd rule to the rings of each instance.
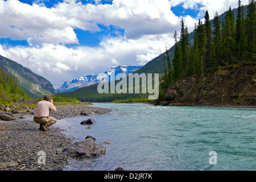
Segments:
[[[27,97],[25,90],[19,87],[19,83],[15,77],[5,72],[3,67],[0,68],[0,86],[7,94],[18,94],[22,97]]]

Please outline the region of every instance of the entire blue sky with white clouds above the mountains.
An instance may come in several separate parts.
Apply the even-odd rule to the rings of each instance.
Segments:
[[[243,0],[245,5],[247,0]],[[145,65],[174,44],[181,18],[189,31],[237,0],[0,0],[0,55],[55,88],[117,65]]]

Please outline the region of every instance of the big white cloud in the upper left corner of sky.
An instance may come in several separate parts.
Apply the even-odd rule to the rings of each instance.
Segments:
[[[18,0],[0,1],[0,37],[29,43],[78,43],[73,19],[59,16],[55,8],[33,6]]]

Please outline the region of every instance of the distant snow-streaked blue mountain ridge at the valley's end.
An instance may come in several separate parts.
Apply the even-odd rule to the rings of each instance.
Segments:
[[[114,80],[118,74],[122,74],[121,76],[126,76],[141,68],[142,66],[119,65],[117,67],[112,67],[110,72],[106,71],[104,73],[100,73],[99,75],[83,75],[79,78],[73,79],[72,81],[66,81],[56,90],[61,93],[71,92],[84,86],[98,84],[99,82],[109,82],[110,80]]]

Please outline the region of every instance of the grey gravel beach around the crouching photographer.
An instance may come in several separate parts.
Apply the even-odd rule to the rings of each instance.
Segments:
[[[79,116],[82,110],[91,114],[111,111],[86,104],[55,106],[57,112],[50,115],[57,119]],[[47,132],[40,131],[39,124],[33,121],[33,112],[34,108],[20,111],[14,121],[0,119],[0,171],[59,171],[69,165],[70,156],[62,151],[73,139],[54,125]]]

